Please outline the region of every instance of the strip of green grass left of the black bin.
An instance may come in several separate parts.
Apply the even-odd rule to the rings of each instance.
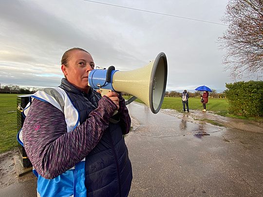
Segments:
[[[17,147],[17,95],[0,94],[0,153]]]

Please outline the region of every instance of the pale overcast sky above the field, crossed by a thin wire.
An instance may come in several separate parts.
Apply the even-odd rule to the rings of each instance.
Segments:
[[[99,0],[99,2],[222,23],[227,0]],[[1,0],[0,83],[56,87],[62,54],[89,51],[96,66],[128,71],[164,52],[167,90],[207,85],[225,90],[217,39],[227,26],[84,0]]]

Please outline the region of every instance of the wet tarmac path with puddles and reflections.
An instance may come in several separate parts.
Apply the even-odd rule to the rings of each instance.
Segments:
[[[263,134],[198,124],[131,103],[129,197],[262,197]],[[36,179],[0,190],[35,197]]]

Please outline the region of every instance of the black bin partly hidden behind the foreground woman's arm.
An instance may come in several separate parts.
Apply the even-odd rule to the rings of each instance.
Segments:
[[[30,102],[30,96],[31,94],[17,96],[17,130],[18,132],[24,124],[25,117],[22,114],[22,110]],[[20,160],[22,161],[23,167],[24,168],[31,167],[32,163],[29,161],[26,155],[25,149],[20,143],[18,143],[18,149],[20,152],[19,155],[20,155]]]

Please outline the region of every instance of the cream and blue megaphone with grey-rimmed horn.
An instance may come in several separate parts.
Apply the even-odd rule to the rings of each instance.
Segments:
[[[158,113],[162,106],[166,83],[167,58],[163,52],[145,67],[132,71],[94,69],[88,79],[89,86],[101,90],[102,95],[108,90],[126,92],[143,101],[152,113]]]

